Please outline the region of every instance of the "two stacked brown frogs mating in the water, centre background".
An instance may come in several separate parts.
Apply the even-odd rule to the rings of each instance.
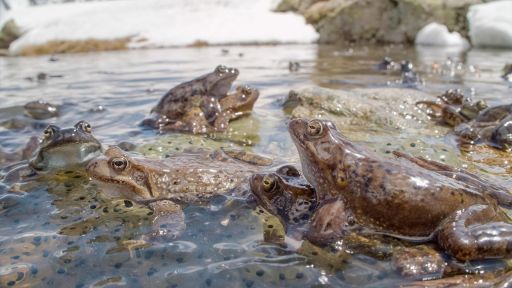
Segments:
[[[194,134],[225,131],[229,121],[251,112],[259,96],[249,86],[238,86],[228,94],[238,75],[238,69],[219,65],[211,73],[172,88],[151,110],[152,118],[142,124]]]

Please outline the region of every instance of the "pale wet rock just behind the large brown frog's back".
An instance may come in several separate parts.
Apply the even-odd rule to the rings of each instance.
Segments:
[[[382,154],[399,150],[459,166],[457,152],[439,137],[450,129],[436,125],[416,107],[425,99],[435,98],[403,88],[312,87],[291,92],[284,110],[292,118],[331,120],[345,136]]]

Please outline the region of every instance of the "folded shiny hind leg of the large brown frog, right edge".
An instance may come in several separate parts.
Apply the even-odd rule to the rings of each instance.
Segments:
[[[454,212],[437,230],[437,242],[461,261],[512,256],[512,224],[495,206],[477,204]]]

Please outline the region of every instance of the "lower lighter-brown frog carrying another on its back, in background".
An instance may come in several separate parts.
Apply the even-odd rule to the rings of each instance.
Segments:
[[[224,132],[231,120],[251,113],[259,94],[258,89],[246,85],[238,86],[235,92],[219,100],[220,110],[213,123],[208,121],[200,107],[192,107],[177,121],[161,117],[158,126],[161,131],[181,131],[192,134]]]

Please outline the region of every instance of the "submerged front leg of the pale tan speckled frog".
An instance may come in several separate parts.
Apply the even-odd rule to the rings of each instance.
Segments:
[[[179,237],[185,231],[185,214],[181,207],[170,200],[159,200],[149,203],[153,210],[153,231],[151,240],[168,241]]]

